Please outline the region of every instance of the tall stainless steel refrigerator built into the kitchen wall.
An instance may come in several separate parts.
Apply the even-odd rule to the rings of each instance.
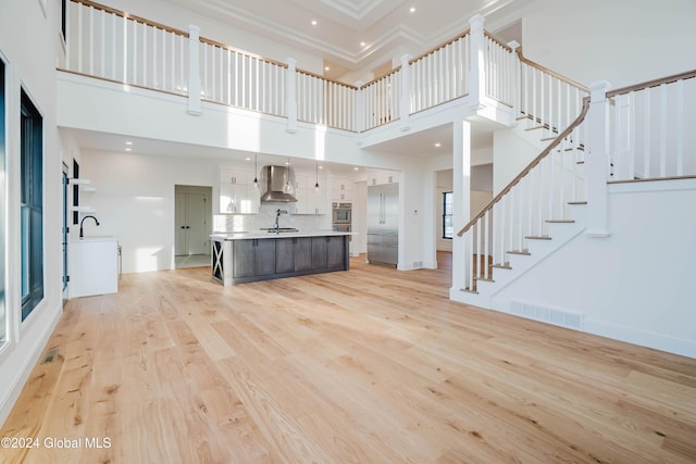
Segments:
[[[396,267],[399,259],[399,185],[368,187],[368,262]]]

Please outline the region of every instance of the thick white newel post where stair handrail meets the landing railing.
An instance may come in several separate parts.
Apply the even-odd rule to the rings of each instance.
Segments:
[[[587,183],[587,235],[608,237],[607,179],[609,160],[609,83],[589,86],[589,153],[585,159]]]

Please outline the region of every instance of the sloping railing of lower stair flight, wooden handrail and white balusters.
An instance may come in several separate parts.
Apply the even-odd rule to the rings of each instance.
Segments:
[[[580,115],[457,233],[465,243],[464,290],[476,291],[477,280],[490,280],[493,267],[509,267],[507,253],[526,253],[524,240],[547,239],[546,224],[562,221],[567,200],[579,202],[572,201],[579,176],[569,152],[584,149],[573,134],[588,109],[585,97]]]

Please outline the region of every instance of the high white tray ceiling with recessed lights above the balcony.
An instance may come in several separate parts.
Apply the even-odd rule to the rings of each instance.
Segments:
[[[514,21],[533,0],[167,0],[324,59],[328,78],[418,55],[482,14],[487,29]],[[250,50],[253,51],[253,50]],[[353,84],[353,83],[349,83]]]

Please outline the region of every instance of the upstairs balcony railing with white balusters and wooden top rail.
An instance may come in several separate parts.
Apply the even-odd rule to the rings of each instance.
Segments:
[[[483,24],[483,18],[478,25]],[[65,71],[296,122],[364,131],[467,97],[472,76],[485,96],[513,108],[519,60],[477,29],[409,60],[384,77],[350,86],[89,0],[72,0]],[[474,40],[475,39],[475,40]],[[472,43],[485,50],[480,63]],[[481,79],[483,76],[483,79]]]

